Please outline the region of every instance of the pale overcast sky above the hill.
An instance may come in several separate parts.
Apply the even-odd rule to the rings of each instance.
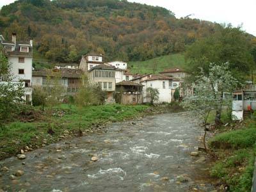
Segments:
[[[15,0],[0,0],[0,7]],[[210,20],[218,23],[243,25],[243,29],[256,36],[256,0],[128,0],[162,6],[175,13],[176,17]]]

